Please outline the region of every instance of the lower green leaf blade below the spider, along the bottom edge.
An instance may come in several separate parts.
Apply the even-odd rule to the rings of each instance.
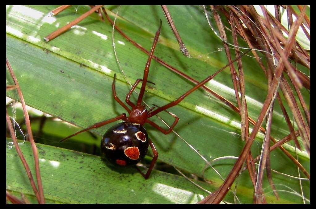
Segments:
[[[20,148],[35,175],[30,143]],[[145,180],[136,168],[112,168],[98,156],[42,144],[37,148],[46,203],[195,203],[207,195],[177,175],[154,171]],[[30,195],[33,190],[15,148],[7,149],[6,165],[7,189]]]

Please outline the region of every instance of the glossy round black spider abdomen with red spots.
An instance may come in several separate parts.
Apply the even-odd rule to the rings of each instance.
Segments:
[[[136,165],[148,150],[149,137],[142,125],[123,122],[112,126],[101,140],[101,153],[116,165]]]

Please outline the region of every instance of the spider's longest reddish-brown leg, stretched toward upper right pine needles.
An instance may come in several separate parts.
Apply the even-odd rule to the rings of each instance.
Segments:
[[[182,96],[180,96],[177,100],[170,102],[162,107],[159,107],[158,109],[154,110],[153,112],[148,114],[148,118],[154,116],[157,113],[160,113],[161,111],[164,111],[170,107],[173,107],[177,104],[179,104],[186,96],[188,96],[189,94],[191,94],[193,91],[197,90],[198,88],[200,88],[201,86],[203,86],[206,82],[210,81],[212,78],[214,78],[218,73],[220,73],[223,69],[225,69],[226,67],[228,67],[229,65],[231,65],[232,63],[234,63],[234,61],[240,59],[243,55],[247,54],[251,49],[249,49],[248,51],[246,51],[245,53],[239,55],[236,59],[234,59],[233,61],[231,61],[230,63],[228,63],[227,65],[225,65],[224,67],[222,67],[221,69],[219,69],[216,73],[214,73],[213,75],[210,75],[209,77],[205,78],[203,81],[201,81],[200,83],[198,83],[196,86],[194,86],[192,89],[188,90],[187,92],[185,92]]]

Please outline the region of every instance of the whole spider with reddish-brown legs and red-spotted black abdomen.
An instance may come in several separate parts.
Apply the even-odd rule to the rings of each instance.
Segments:
[[[148,73],[149,73],[149,66],[150,62],[152,59],[152,56],[154,54],[154,50],[156,47],[156,44],[158,42],[159,34],[160,34],[160,29],[161,29],[161,20],[160,20],[160,26],[159,29],[156,32],[155,39],[153,46],[150,50],[150,54],[148,57],[148,61],[145,66],[144,70],[144,75],[143,79],[137,79],[135,84],[132,86],[131,90],[128,92],[126,95],[125,102],[131,106],[131,110],[119,99],[119,97],[116,96],[116,91],[115,91],[115,74],[114,74],[114,79],[112,83],[112,91],[113,91],[113,96],[114,99],[122,106],[125,108],[125,110],[128,112],[129,116],[126,117],[126,114],[123,113],[115,118],[108,119],[99,123],[96,123],[86,129],[83,129],[81,131],[78,131],[64,139],[62,139],[60,142],[64,142],[68,138],[75,136],[79,133],[82,133],[84,131],[88,131],[90,129],[94,128],[99,128],[103,125],[112,123],[117,120],[124,120],[125,122],[119,123],[117,125],[112,126],[106,133],[104,134],[102,140],[101,140],[101,153],[111,163],[115,165],[120,165],[120,166],[126,166],[126,165],[136,165],[140,160],[142,160],[148,150],[148,147],[150,145],[151,149],[153,150],[153,160],[151,161],[151,164],[149,166],[148,171],[146,174],[144,174],[137,166],[137,170],[143,175],[145,179],[149,178],[149,175],[155,165],[155,162],[158,158],[158,152],[155,148],[154,143],[149,139],[147,131],[143,127],[145,123],[148,123],[149,125],[152,125],[159,131],[161,131],[164,134],[169,134],[174,126],[178,123],[179,118],[173,114],[167,111],[168,108],[173,107],[179,102],[181,102],[186,96],[191,94],[194,90],[197,90],[199,87],[204,85],[206,82],[211,80],[217,73],[221,72],[224,68],[228,67],[230,64],[232,64],[234,61],[239,59],[241,56],[246,54],[250,49],[238,56],[235,60],[233,60],[231,63],[227,64],[226,66],[222,67],[219,71],[214,73],[213,75],[205,78],[203,81],[198,83],[196,86],[194,86],[192,89],[189,91],[185,92],[182,96],[180,96],[177,100],[170,102],[162,107],[158,107],[156,110],[153,110],[155,107],[151,108],[149,111],[145,108],[145,105],[142,105],[142,99],[143,95],[145,92],[145,86],[146,83],[149,82],[147,81],[148,78]],[[136,105],[130,101],[130,96],[136,86],[139,84],[139,82],[142,83],[142,87],[137,99]],[[154,123],[153,121],[149,120],[150,117],[156,115],[157,113],[160,113],[161,111],[166,111],[169,113],[171,116],[175,118],[173,124],[170,126],[168,130],[164,130],[161,128],[159,125]]]

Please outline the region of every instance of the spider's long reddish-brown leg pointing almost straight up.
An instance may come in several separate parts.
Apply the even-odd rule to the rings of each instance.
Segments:
[[[142,104],[143,96],[144,96],[144,93],[145,93],[145,87],[146,87],[146,83],[147,83],[147,78],[148,78],[148,73],[149,73],[149,66],[150,66],[151,58],[153,57],[153,54],[154,54],[154,51],[155,51],[156,44],[158,42],[160,29],[161,29],[161,24],[162,24],[162,22],[160,20],[160,26],[159,26],[159,29],[156,32],[154,43],[153,43],[153,46],[151,47],[150,54],[149,54],[147,63],[145,65],[144,76],[143,76],[143,84],[142,84],[142,87],[140,89],[139,96],[138,96],[138,99],[137,99],[137,107],[140,107],[141,104]]]

